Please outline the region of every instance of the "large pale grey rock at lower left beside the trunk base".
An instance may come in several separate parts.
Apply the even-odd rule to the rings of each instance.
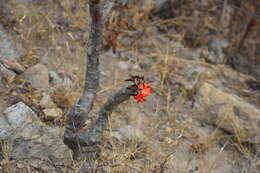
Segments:
[[[4,132],[8,128],[12,133],[6,135]],[[0,139],[12,146],[9,156],[17,163],[27,159],[30,164],[50,169],[49,172],[57,171],[54,165],[64,164],[69,158],[69,149],[64,145],[60,133],[60,128],[42,123],[22,102],[7,108],[0,116]]]

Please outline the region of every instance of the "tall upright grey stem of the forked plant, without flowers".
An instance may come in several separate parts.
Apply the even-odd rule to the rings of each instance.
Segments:
[[[85,86],[80,100],[73,106],[65,122],[64,143],[73,151],[79,148],[78,140],[75,140],[73,136],[77,135],[84,126],[96,97],[99,85],[99,55],[102,49],[102,35],[107,14],[111,10],[113,3],[113,0],[107,0],[102,6],[100,0],[89,0],[91,30],[87,48]]]

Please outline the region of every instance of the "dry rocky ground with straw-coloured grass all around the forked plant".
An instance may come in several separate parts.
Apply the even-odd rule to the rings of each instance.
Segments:
[[[133,0],[112,11],[86,128],[130,75],[145,76],[153,93],[112,113],[96,172],[260,171],[253,3]],[[84,82],[84,4],[0,0],[0,172],[84,172],[62,142],[64,117]]]

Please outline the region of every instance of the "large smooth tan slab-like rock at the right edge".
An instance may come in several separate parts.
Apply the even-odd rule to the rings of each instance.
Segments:
[[[195,107],[201,122],[216,125],[241,141],[260,143],[260,110],[238,96],[204,83],[197,91]]]

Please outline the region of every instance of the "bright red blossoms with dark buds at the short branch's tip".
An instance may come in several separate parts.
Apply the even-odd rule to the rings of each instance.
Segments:
[[[138,91],[136,95],[133,95],[135,100],[137,102],[145,102],[145,97],[151,94],[152,89],[150,88],[148,83],[144,82],[144,77],[132,76],[130,79],[127,79],[126,81],[133,82],[134,84],[131,85],[129,88],[137,89]]]

